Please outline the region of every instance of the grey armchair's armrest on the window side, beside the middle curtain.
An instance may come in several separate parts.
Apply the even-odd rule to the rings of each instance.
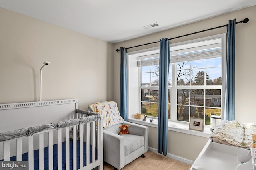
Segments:
[[[146,153],[148,151],[148,127],[126,121],[124,121],[123,124],[130,125],[130,127],[128,127],[129,134],[140,135],[144,137],[144,153]]]

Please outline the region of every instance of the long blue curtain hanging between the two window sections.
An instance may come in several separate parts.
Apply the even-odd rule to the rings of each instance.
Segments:
[[[159,106],[158,106],[158,153],[167,154],[168,132],[168,75],[170,46],[168,38],[160,40],[159,56]]]

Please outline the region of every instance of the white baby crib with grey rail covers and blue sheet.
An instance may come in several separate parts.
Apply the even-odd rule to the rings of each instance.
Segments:
[[[77,99],[0,105],[0,161],[29,170],[103,170],[102,117]]]

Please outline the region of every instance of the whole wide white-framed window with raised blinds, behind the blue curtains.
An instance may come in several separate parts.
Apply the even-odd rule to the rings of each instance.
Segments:
[[[210,115],[224,114],[225,37],[220,34],[170,45],[168,119],[189,122],[190,117],[197,117],[210,125]],[[128,64],[129,113],[158,117],[159,48],[128,53]]]

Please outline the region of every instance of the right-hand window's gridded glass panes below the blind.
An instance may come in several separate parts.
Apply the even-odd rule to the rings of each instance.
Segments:
[[[178,121],[197,117],[210,125],[211,114],[221,115],[221,63],[221,56],[176,63]]]

